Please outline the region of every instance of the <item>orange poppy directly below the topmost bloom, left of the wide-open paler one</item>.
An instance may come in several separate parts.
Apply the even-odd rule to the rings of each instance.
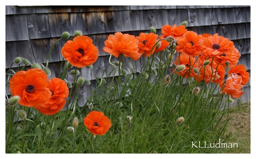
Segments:
[[[194,31],[187,31],[182,37],[177,38],[177,46],[175,49],[177,52],[186,56],[195,58],[201,53],[201,46],[199,40],[203,38],[202,35],[197,35]]]

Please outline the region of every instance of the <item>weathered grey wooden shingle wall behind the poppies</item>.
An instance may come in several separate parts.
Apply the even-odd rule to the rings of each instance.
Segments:
[[[82,68],[80,76],[91,80],[84,85],[79,95],[79,105],[85,103],[90,89],[95,87],[95,76],[101,77],[109,55],[102,52],[104,41],[115,32],[139,36],[154,26],[160,33],[163,25],[180,25],[188,21],[187,29],[201,33],[218,33],[229,38],[239,50],[239,64],[251,70],[251,8],[250,6],[6,6],[6,64],[8,70],[15,57],[24,57],[31,63],[46,63],[46,57],[53,43],[62,32],[73,34],[81,30],[93,39],[100,51],[92,69]],[[57,77],[61,49],[65,40],[53,48],[49,59],[52,71],[50,78]],[[113,58],[112,61],[116,59]],[[129,59],[126,59],[127,63]],[[137,62],[139,69],[142,58]],[[17,67],[18,65],[13,65]],[[106,76],[108,72],[103,74]],[[72,77],[68,77],[72,79]],[[250,80],[244,86],[243,102],[250,101]],[[6,93],[10,94],[9,88]]]

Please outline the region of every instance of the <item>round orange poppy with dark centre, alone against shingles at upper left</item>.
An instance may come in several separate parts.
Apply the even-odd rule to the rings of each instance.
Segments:
[[[76,36],[62,47],[62,56],[75,67],[86,67],[96,62],[99,50],[93,40],[85,35]]]

